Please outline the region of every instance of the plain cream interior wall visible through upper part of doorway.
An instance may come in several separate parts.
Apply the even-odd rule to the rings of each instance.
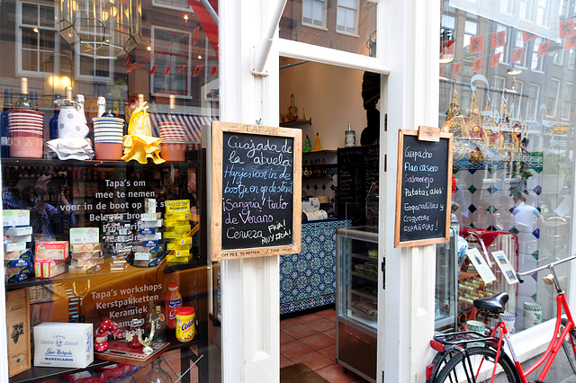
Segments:
[[[299,60],[280,58],[280,67],[293,62]],[[356,146],[360,146],[360,135],[366,127],[363,75],[360,70],[314,62],[281,69],[280,114],[288,114],[293,94],[298,118],[302,119],[302,110],[305,110],[306,118],[312,119],[311,125],[299,126],[302,137],[310,137],[312,148],[316,133],[320,133],[322,149],[344,147],[348,123],[356,130]]]

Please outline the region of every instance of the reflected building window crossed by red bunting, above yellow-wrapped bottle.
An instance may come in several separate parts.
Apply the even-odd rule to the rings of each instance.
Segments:
[[[190,32],[152,27],[152,94],[190,96]]]

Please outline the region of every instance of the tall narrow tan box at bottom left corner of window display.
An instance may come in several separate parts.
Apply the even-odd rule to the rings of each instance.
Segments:
[[[8,377],[31,368],[30,305],[28,289],[6,291]]]

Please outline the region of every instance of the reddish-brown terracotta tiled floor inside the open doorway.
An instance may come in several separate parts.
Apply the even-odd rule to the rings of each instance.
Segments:
[[[333,308],[280,321],[280,368],[304,363],[330,383],[366,382],[336,363]]]

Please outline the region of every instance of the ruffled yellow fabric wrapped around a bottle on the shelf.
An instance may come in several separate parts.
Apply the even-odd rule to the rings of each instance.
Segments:
[[[150,114],[147,102],[144,102],[130,116],[128,134],[124,136],[124,156],[121,159],[128,162],[138,161],[146,164],[152,158],[154,164],[162,164],[166,160],[160,157],[160,141],[162,138],[152,137]]]

